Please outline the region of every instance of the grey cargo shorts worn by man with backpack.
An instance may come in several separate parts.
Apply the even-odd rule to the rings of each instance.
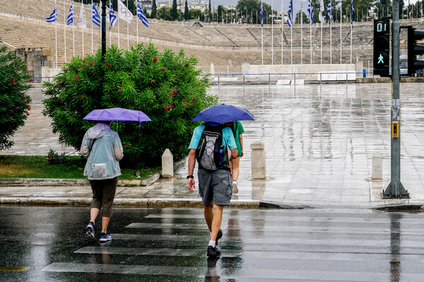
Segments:
[[[199,194],[201,202],[205,206],[213,201],[219,206],[229,206],[232,196],[231,173],[224,169],[208,171],[199,168],[197,171],[199,178]]]

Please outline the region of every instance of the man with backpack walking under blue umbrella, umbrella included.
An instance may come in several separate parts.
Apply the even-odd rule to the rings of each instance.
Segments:
[[[206,254],[209,257],[220,256],[218,240],[223,232],[220,225],[223,208],[230,205],[232,196],[232,177],[228,162],[230,155],[237,157],[237,145],[231,128],[223,125],[229,121],[253,119],[253,115],[244,109],[230,105],[215,105],[201,111],[192,121],[206,121],[194,128],[189,145],[189,174],[187,186],[194,192],[194,165],[199,163],[199,195],[204,204],[204,217],[211,232]],[[230,151],[230,152],[228,152]]]

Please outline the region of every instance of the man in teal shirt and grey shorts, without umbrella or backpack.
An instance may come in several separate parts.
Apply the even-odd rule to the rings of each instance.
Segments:
[[[220,123],[211,123],[209,125],[217,126]],[[189,175],[187,176],[187,185],[190,192],[194,192],[194,165],[196,164],[196,150],[199,147],[199,141],[204,131],[205,125],[194,128],[192,142],[189,145]],[[237,145],[235,144],[234,135],[231,128],[225,127],[222,130],[224,152],[227,147],[231,151],[232,158],[237,157]],[[218,168],[215,171],[199,167],[197,171],[199,178],[199,194],[204,204],[204,216],[211,231],[211,239],[209,240],[207,255],[216,257],[220,255],[220,251],[216,247],[218,240],[222,237],[220,230],[221,221],[223,219],[224,206],[230,205],[232,195],[232,178],[229,169]]]

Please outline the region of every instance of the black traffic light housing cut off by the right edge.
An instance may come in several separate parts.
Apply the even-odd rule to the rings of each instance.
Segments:
[[[424,38],[424,30],[417,30],[408,26],[408,76],[424,68],[424,60],[416,59],[417,55],[424,54],[424,45],[417,45],[417,41]]]

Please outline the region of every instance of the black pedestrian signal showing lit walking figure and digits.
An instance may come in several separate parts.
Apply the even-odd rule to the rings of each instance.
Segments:
[[[374,56],[373,73],[382,77],[389,77],[390,58],[390,20],[380,18],[374,20]]]

